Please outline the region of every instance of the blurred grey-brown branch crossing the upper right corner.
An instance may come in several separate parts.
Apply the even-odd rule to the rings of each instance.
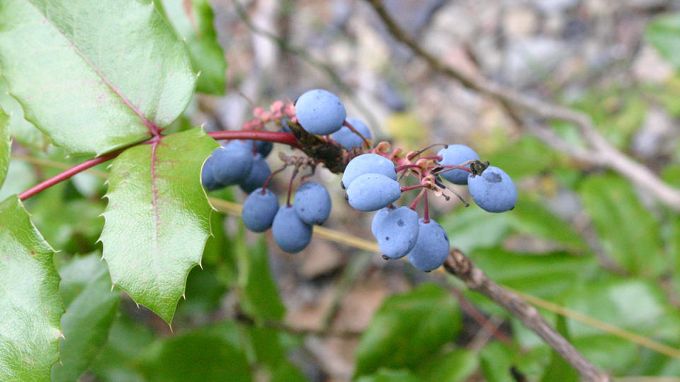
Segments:
[[[530,132],[536,134],[539,139],[542,139],[555,149],[573,155],[580,161],[591,163],[594,166],[607,166],[616,170],[631,182],[644,188],[660,202],[666,204],[675,211],[680,211],[680,190],[668,185],[655,173],[652,173],[649,168],[634,161],[621,151],[618,151],[616,147],[597,132],[591,117],[583,112],[578,112],[560,105],[553,105],[543,100],[526,96],[513,88],[494,83],[482,76],[465,74],[463,71],[458,71],[457,69],[444,64],[440,59],[424,50],[412,40],[411,37],[404,33],[404,30],[397,25],[394,19],[392,19],[392,16],[387,12],[385,6],[382,5],[381,0],[366,1],[373,6],[378,13],[378,16],[382,19],[382,22],[387,26],[387,30],[389,30],[392,37],[409,47],[414,54],[421,57],[421,59],[424,59],[432,69],[444,76],[459,81],[466,88],[470,88],[499,100],[507,112],[509,112],[509,115],[514,122],[518,122],[520,125],[525,124],[521,118],[518,117],[518,110],[526,110],[533,115],[548,121],[562,120],[572,123],[579,129],[583,139],[591,146],[589,151],[578,151],[572,149],[570,146],[565,148],[562,141],[560,141],[559,144],[555,144],[557,142],[555,141],[555,136],[551,136],[550,139],[547,139],[548,136],[545,134],[536,134],[536,129],[530,129]]]

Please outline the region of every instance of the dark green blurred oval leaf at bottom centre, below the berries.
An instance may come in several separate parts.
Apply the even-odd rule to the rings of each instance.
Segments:
[[[434,284],[392,296],[380,307],[356,349],[356,376],[380,367],[414,369],[460,330],[458,303]]]

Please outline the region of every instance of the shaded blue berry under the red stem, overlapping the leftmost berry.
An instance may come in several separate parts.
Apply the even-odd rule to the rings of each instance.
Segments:
[[[206,178],[212,169],[215,182],[222,187],[235,185],[244,180],[253,167],[252,150],[250,144],[239,140],[229,141],[227,146],[215,149],[203,165]]]

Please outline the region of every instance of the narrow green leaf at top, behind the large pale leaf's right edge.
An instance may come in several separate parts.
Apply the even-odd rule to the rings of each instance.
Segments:
[[[207,0],[162,0],[168,21],[179,37],[186,41],[194,71],[198,71],[196,91],[225,93],[227,62],[217,43],[212,25],[215,16]]]

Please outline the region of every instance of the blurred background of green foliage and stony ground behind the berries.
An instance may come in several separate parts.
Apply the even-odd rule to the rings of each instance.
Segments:
[[[586,112],[618,149],[680,187],[677,1],[385,3],[445,62]],[[546,146],[494,100],[432,74],[361,1],[162,0],[159,10],[201,73],[171,131],[237,129],[254,105],[329,88],[395,146],[469,144],[514,178],[521,197],[506,214],[433,200],[451,245],[538,304],[613,376],[680,375],[677,212],[621,175]],[[65,158],[23,120],[2,82],[0,105],[14,139],[0,199],[81,160]],[[574,126],[550,128],[583,145]],[[278,166],[276,155],[270,165]],[[67,314],[54,381],[578,380],[533,332],[443,272],[384,262],[339,234],[286,255],[219,206],[202,267],[189,275],[169,328],[111,291],[97,243],[107,171],[97,166],[26,202],[61,250]],[[283,195],[279,178],[273,187]],[[372,240],[371,216],[346,207],[336,175],[316,178],[334,190],[327,227]]]

